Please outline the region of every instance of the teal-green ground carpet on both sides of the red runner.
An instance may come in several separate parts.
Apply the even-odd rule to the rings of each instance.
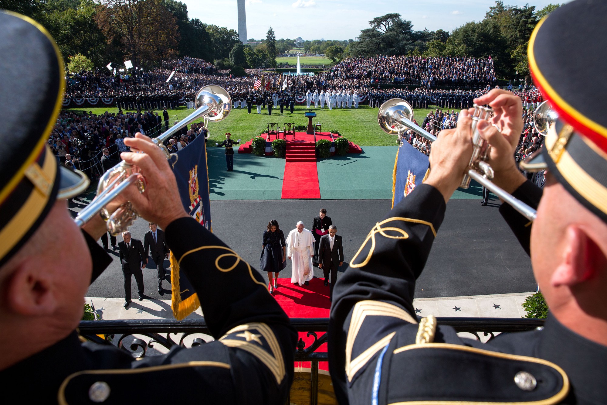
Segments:
[[[207,147],[211,199],[281,198],[285,159],[236,153],[234,171],[226,171],[224,149],[211,146],[211,142]],[[320,198],[392,199],[396,150],[396,146],[362,147],[363,153],[319,159]],[[481,186],[473,181],[470,189],[458,189],[452,198],[481,199]]]

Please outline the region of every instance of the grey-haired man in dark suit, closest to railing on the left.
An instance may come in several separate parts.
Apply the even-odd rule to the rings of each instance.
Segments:
[[[138,239],[131,238],[131,232],[125,230],[122,233],[123,240],[118,242],[120,252],[120,263],[124,275],[124,308],[131,303],[131,275],[135,276],[137,282],[137,293],[139,300],[143,300],[143,272],[141,269],[148,263],[148,255],[143,251],[143,244]]]

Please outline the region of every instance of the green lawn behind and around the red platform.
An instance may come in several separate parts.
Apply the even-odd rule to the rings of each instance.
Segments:
[[[83,108],[72,109],[69,111],[81,112],[93,111],[95,114],[103,114],[103,112],[118,112],[117,108]],[[169,110],[171,116],[177,115],[179,120],[188,116],[193,110],[188,110],[185,107]],[[307,111],[305,105],[296,105],[295,112],[291,114],[288,109],[285,109],[283,114],[280,114],[280,109],[272,109],[272,116],[268,116],[268,110],[262,109],[262,114],[257,114],[257,109],[253,106],[251,114],[247,113],[246,108],[236,109],[230,112],[229,116],[220,122],[209,123],[209,133],[211,139],[217,141],[225,139],[225,133],[232,134],[232,139],[242,138],[249,140],[260,134],[262,130],[267,130],[268,122],[277,122],[282,127],[285,122],[294,122],[296,125],[307,125],[308,119],[304,116]],[[415,119],[421,123],[430,109],[416,109]],[[162,114],[162,111],[156,111]],[[355,108],[335,108],[329,111],[328,108],[314,109],[316,117],[314,123],[320,122],[323,131],[337,130],[342,136],[348,140],[361,146],[392,146],[396,144],[396,136],[389,135],[379,128],[377,114],[378,109],[369,108],[368,106],[359,106]],[[174,122],[171,117],[171,124]]]

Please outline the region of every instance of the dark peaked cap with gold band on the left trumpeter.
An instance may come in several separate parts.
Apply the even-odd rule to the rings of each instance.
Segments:
[[[63,165],[47,140],[65,90],[63,58],[33,19],[0,10],[0,265],[58,198],[83,192],[89,179]]]

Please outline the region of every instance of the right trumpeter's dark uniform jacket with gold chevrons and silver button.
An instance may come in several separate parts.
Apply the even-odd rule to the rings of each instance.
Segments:
[[[526,182],[514,195],[537,206],[541,192]],[[504,206],[528,249],[529,221]],[[415,280],[445,208],[438,190],[418,185],[371,229],[336,283],[328,355],[339,403],[605,403],[607,348],[551,314],[543,328],[486,344],[460,338],[434,317],[416,317]]]

